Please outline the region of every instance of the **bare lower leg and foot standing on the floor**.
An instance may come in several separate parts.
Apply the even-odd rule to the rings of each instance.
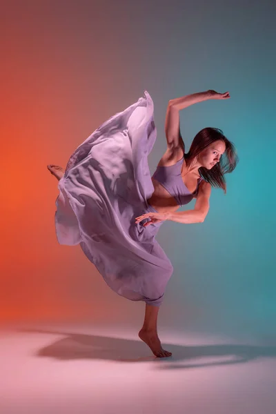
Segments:
[[[139,331],[139,337],[150,347],[152,353],[157,357],[170,357],[171,352],[165,351],[161,347],[160,339],[157,335],[157,315],[159,306],[146,304],[144,325]]]

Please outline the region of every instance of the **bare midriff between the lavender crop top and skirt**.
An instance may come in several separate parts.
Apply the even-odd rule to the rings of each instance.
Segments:
[[[169,211],[170,213],[174,213],[179,209],[179,204],[175,197],[172,197],[170,193],[161,186],[161,184],[154,178],[152,178],[152,184],[155,188],[152,196],[147,200],[148,204],[155,208],[158,213],[164,213],[165,211]]]

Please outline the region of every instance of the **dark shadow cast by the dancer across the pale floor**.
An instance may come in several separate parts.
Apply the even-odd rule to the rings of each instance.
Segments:
[[[170,351],[172,356],[157,358],[151,353],[150,348],[139,339],[136,341],[134,339],[48,331],[43,329],[20,329],[20,332],[63,336],[62,339],[55,340],[52,344],[41,348],[35,354],[39,357],[51,357],[64,360],[104,359],[115,362],[166,362],[166,364],[158,364],[158,369],[183,369],[238,364],[257,358],[276,356],[276,346],[241,344],[184,346],[162,343],[163,348]],[[202,359],[205,359],[205,361],[202,361]]]

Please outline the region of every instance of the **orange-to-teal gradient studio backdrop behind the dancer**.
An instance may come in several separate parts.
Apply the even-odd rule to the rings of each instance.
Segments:
[[[213,188],[204,224],[166,222],[175,267],[159,326],[270,337],[275,295],[275,3],[7,1],[1,27],[1,324],[137,325],[144,302],[108,288],[79,246],[55,235],[63,167],[110,116],[148,90],[153,173],[166,150],[169,99],[215,89],[226,101],[181,111],[188,150],[206,126],[237,147],[228,193]],[[194,201],[181,210],[193,208]]]

